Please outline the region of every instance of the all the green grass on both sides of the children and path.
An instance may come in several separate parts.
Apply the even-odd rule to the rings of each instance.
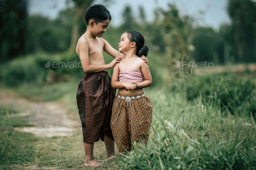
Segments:
[[[75,81],[49,84],[42,87],[40,94],[37,87],[16,90],[29,99],[36,96],[43,101],[57,99],[72,114],[78,114],[77,86]],[[118,156],[118,160],[102,164],[101,169],[256,169],[256,125],[252,117],[247,118],[239,110],[232,115],[217,103],[207,102],[200,96],[187,101],[183,94],[170,88],[144,89],[154,106],[147,147],[134,144],[134,151],[126,157]],[[51,96],[52,93],[56,96]],[[0,109],[1,125],[5,124],[2,120],[10,119],[1,128],[6,136],[0,135],[0,168],[8,169],[18,164],[84,168],[81,160],[85,158],[82,132],[75,132],[71,137],[35,137],[30,133],[13,131],[13,127],[26,124],[17,124],[20,118],[14,116],[11,119],[13,114],[19,115],[10,106]],[[95,144],[94,153],[97,160],[106,158],[103,142]]]

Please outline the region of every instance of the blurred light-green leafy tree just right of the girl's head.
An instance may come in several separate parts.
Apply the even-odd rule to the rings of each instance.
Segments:
[[[171,61],[174,58],[179,61],[183,59],[188,61],[191,59],[191,53],[194,50],[194,46],[191,44],[193,19],[189,16],[181,17],[175,5],[168,4],[168,7],[168,10],[163,10],[162,8],[157,9],[156,16],[162,15],[163,20],[159,21],[158,19],[158,23],[156,24],[160,25],[159,31],[165,34],[167,61],[169,66],[173,66],[174,64]]]

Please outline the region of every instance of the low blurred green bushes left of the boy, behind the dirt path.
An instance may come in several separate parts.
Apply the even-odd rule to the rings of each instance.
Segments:
[[[56,56],[54,54],[36,53],[5,62],[0,66],[3,68],[3,71],[0,72],[0,80],[7,87],[16,87],[20,84],[39,85],[49,80],[51,82],[68,80],[69,75],[77,77],[78,80],[81,78],[84,74],[82,68],[70,68],[72,62],[80,62],[78,55],[73,58],[74,54],[69,53],[57,54]],[[50,61],[51,66],[46,68],[45,64],[48,61]],[[65,67],[65,64],[59,64],[59,68],[53,68],[53,62],[57,64],[59,62],[65,63],[67,67]]]

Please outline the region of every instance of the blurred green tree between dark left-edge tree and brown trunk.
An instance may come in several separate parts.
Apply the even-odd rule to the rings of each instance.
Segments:
[[[62,10],[56,19],[41,15],[29,16],[28,28],[33,32],[26,36],[26,53],[67,51],[70,45],[73,16],[73,8]]]

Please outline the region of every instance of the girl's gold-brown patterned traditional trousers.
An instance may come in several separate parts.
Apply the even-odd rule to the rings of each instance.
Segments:
[[[131,95],[142,96],[143,93]],[[118,91],[117,96],[126,97]],[[119,153],[131,150],[131,142],[147,144],[149,128],[152,122],[153,106],[147,97],[133,99],[127,105],[123,99],[115,97],[112,107],[111,129]]]

